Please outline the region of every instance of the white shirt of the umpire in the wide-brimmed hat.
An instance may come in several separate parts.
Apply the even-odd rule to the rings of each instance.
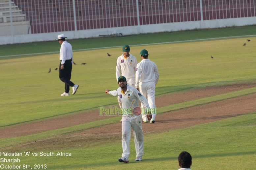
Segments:
[[[60,47],[61,64],[64,64],[66,60],[70,60],[70,59],[72,59],[72,63],[73,63],[72,46],[67,41],[64,41]]]

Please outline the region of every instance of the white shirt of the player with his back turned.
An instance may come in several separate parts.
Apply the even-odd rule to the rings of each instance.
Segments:
[[[155,81],[157,84],[159,79],[159,73],[157,70],[156,63],[149,59],[143,59],[137,64],[136,68],[136,82],[135,87],[139,87],[139,82],[151,82]]]

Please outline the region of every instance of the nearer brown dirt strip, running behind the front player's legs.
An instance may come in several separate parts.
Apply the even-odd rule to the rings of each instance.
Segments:
[[[156,116],[156,122],[142,123],[143,132],[152,133],[171,129],[180,129],[197,124],[213,122],[229,117],[252,113],[255,108],[256,94],[213,102],[187,109],[172,111]],[[106,125],[74,134],[121,134],[121,123]]]

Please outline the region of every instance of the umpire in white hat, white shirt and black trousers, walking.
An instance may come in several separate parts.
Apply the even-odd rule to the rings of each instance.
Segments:
[[[60,80],[65,83],[65,92],[61,96],[69,96],[70,86],[73,89],[72,94],[76,93],[78,85],[74,84],[71,79],[72,63],[73,63],[73,52],[72,46],[66,41],[67,37],[64,34],[58,35],[59,43],[61,44],[60,48],[60,67],[59,67],[59,77]]]

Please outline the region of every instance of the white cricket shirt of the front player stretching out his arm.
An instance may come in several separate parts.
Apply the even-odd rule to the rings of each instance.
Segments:
[[[110,91],[108,94],[112,96],[119,96],[122,101],[123,109],[140,107],[139,101],[146,109],[150,109],[147,99],[134,87],[127,86],[125,94],[122,93],[121,87],[115,91]],[[135,100],[135,101],[134,101]],[[127,115],[130,116],[130,115]]]

